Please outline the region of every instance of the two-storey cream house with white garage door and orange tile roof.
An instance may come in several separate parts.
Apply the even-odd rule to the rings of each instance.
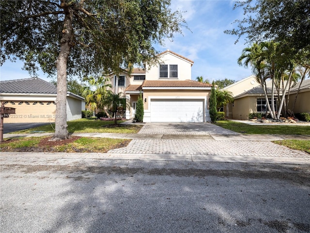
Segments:
[[[211,84],[191,80],[193,61],[166,50],[159,64],[134,68],[129,74],[110,75],[114,93],[124,93],[130,102],[126,118],[134,118],[140,93],[144,103],[144,122],[210,121],[208,98]]]

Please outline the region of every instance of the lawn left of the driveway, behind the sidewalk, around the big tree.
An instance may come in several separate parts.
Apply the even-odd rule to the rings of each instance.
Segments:
[[[121,123],[124,121],[118,121]],[[114,121],[94,120],[82,118],[67,122],[69,133],[138,133],[142,125],[124,125],[121,127],[103,127],[104,125],[114,124]],[[54,133],[55,123],[39,126],[36,128],[16,131],[13,133]]]

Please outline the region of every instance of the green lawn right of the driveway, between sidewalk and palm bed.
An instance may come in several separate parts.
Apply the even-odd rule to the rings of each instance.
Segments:
[[[300,125],[249,125],[231,120],[219,120],[216,125],[243,134],[298,134],[310,135],[310,126]]]

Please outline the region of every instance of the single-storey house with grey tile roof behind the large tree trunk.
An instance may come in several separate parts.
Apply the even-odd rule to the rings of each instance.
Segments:
[[[55,122],[57,87],[39,78],[0,82],[0,101],[16,108],[5,123]],[[81,118],[84,98],[67,93],[67,121]]]

